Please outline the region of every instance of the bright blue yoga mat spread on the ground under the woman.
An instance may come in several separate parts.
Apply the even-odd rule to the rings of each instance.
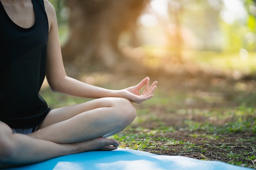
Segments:
[[[57,157],[41,163],[8,170],[252,170],[220,161],[201,161],[182,156],[155,155],[117,149]]]

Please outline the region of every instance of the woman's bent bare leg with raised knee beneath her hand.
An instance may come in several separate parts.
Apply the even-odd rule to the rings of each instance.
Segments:
[[[126,128],[136,117],[136,110],[128,99],[106,97],[83,104],[51,110],[38,130],[29,136],[70,144],[91,139],[107,140]]]

